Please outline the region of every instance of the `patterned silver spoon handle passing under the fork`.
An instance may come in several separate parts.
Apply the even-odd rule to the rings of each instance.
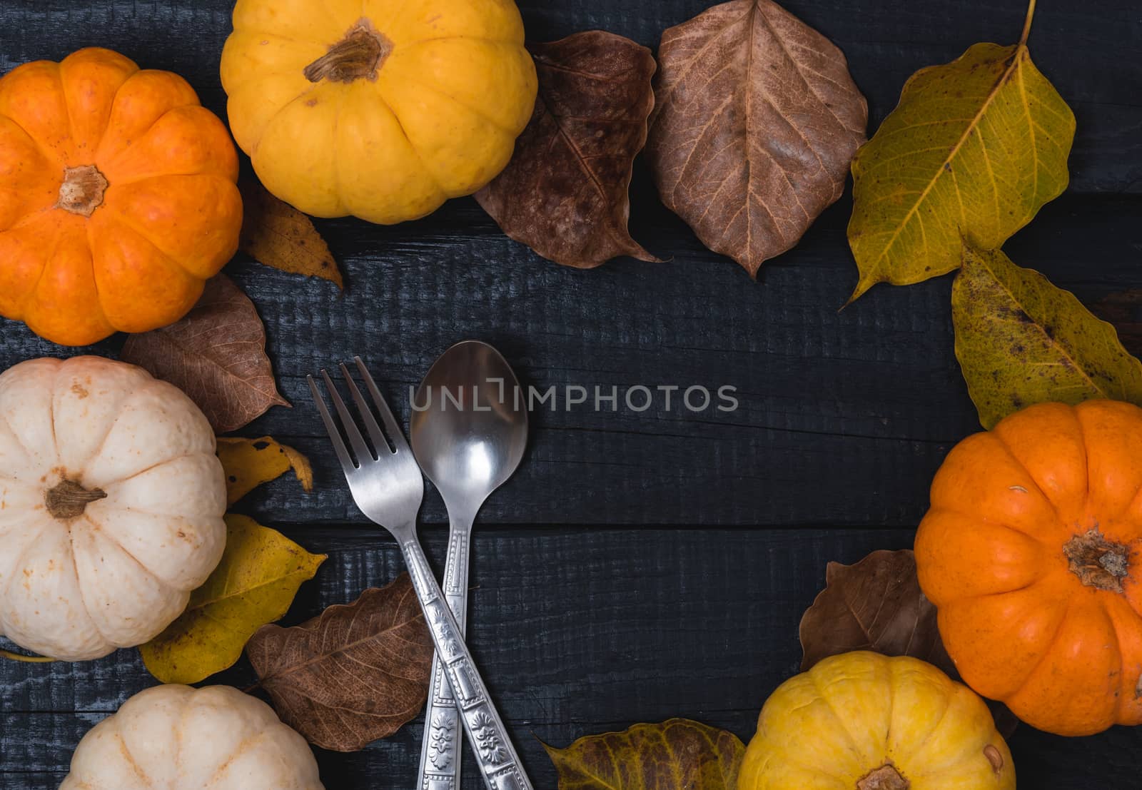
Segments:
[[[461,635],[468,612],[468,547],[472,522],[450,519],[448,563],[441,589],[448,607],[456,615]],[[420,744],[420,781],[417,790],[459,790],[460,787],[460,710],[440,654],[433,656],[432,682],[428,686],[428,709]]]

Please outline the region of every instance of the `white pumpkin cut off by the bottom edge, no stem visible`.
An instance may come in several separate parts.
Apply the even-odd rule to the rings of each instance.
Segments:
[[[59,790],[323,790],[305,739],[230,686],[155,686],[83,736]]]

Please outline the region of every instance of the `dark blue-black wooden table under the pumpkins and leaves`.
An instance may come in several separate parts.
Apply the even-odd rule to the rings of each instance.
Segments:
[[[315,2],[319,0],[314,0]],[[2,0],[0,72],[85,46],[176,71],[224,115],[218,57],[231,0]],[[602,27],[656,47],[708,0],[524,0],[529,38]],[[915,70],[976,41],[1014,41],[1021,0],[787,0],[835,40],[871,105],[894,106]],[[1039,67],[1078,116],[1071,187],[1007,245],[1095,300],[1142,285],[1142,7],[1043,0]],[[241,509],[329,561],[286,623],[347,602],[401,570],[364,522],[304,387],[362,354],[405,402],[432,360],[464,338],[497,345],[525,384],[738,388],[732,413],[656,408],[537,411],[518,474],[486,505],[475,539],[471,640],[538,788],[555,787],[537,739],[573,739],[685,716],[749,739],[766,695],[797,670],[797,622],[830,559],[907,547],[932,474],[978,430],[952,355],[948,277],[877,287],[838,312],[855,283],[847,196],[753,282],[705,250],[637,170],[632,229],[664,264],[593,272],[508,241],[472,200],[397,227],[320,227],[349,290],[240,258],[228,272],[257,304],[292,410],[270,433],[313,459],[317,490],[270,485]],[[0,266],[3,263],[0,261]],[[96,353],[114,356],[122,339]],[[0,369],[72,352],[0,323]],[[405,408],[407,413],[407,408]],[[424,534],[442,561],[447,518],[426,497]],[[215,678],[239,686],[243,660]],[[152,685],[134,651],[87,663],[0,662],[0,785],[54,790],[96,722]],[[407,790],[420,723],[352,755],[319,753],[331,790]],[[1021,788],[1142,784],[1142,731],[1012,739]],[[466,787],[480,787],[467,763]],[[251,789],[252,790],[252,789]]]

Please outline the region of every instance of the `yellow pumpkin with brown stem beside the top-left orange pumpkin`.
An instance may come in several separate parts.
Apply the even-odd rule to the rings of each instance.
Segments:
[[[494,178],[537,86],[512,0],[239,0],[222,81],[270,192],[384,224]]]

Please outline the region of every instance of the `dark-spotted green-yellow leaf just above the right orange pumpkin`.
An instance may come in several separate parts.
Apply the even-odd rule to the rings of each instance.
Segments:
[[[965,248],[963,260],[951,289],[956,357],[984,428],[1044,401],[1142,404],[1142,363],[1072,293],[998,250]]]

